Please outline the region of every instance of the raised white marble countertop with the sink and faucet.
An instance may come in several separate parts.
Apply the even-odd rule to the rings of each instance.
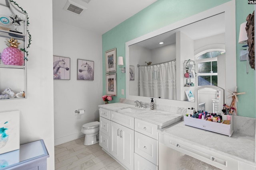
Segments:
[[[136,119],[140,119],[143,121],[147,121],[149,123],[153,123],[155,125],[158,125],[160,129],[169,126],[173,123],[176,123],[177,121],[180,121],[182,119],[182,115],[171,113],[167,111],[160,111],[160,110],[150,110],[150,108],[138,108],[134,105],[125,104],[125,103],[113,103],[113,104],[104,104],[99,105],[99,107],[103,109],[112,110],[130,117],[134,117]],[[141,111],[134,111],[134,112],[126,112],[122,111],[124,108],[134,108],[134,109],[140,109]]]

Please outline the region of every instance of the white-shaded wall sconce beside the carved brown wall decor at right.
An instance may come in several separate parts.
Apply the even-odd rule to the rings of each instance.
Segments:
[[[245,50],[240,50],[240,61],[244,61],[245,59],[243,59],[243,55],[246,55],[246,74],[248,74],[248,64],[249,64],[249,52],[248,52],[248,44],[247,44],[247,32],[246,32],[246,23],[241,23],[240,25],[240,32],[239,32],[239,39],[238,39],[238,43],[239,44],[246,44],[243,45],[242,47],[246,47],[246,51]]]

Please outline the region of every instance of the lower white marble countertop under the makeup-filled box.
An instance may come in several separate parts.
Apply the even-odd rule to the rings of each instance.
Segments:
[[[192,145],[203,147],[204,149],[255,166],[254,137],[235,132],[231,137],[228,137],[226,135],[184,125],[184,121],[179,121],[163,129],[158,129],[158,133],[161,133],[164,136],[167,135],[174,137],[175,139],[180,139],[184,142],[191,143]],[[200,141],[200,143],[198,141]],[[202,145],[202,143],[207,145]]]

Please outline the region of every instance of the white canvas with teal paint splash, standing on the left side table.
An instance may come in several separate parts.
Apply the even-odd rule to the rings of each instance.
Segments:
[[[20,149],[20,111],[0,113],[0,154]]]

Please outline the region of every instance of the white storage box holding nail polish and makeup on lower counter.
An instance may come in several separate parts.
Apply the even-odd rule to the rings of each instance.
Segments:
[[[222,122],[227,119],[227,115],[222,115]],[[207,121],[202,119],[196,119],[194,117],[184,116],[184,125],[197,127],[199,129],[204,129],[206,131],[212,131],[220,133],[223,135],[228,135],[231,137],[233,131],[233,117],[231,116],[231,121],[229,125],[223,123],[217,123],[213,121]]]

